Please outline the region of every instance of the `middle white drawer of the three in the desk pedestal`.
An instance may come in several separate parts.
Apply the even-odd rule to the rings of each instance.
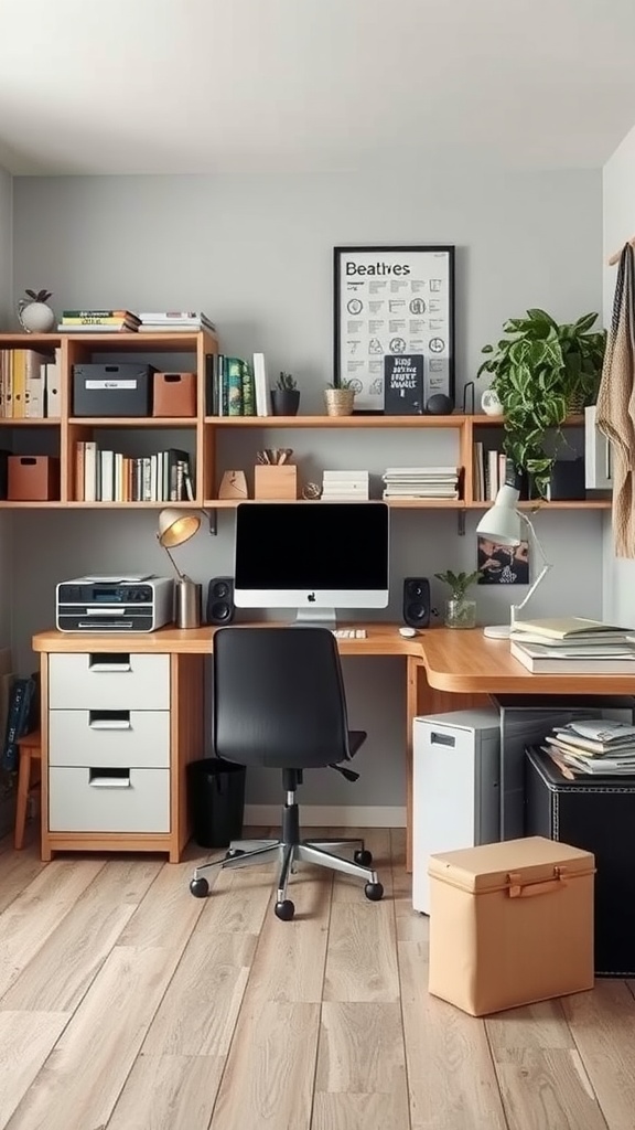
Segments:
[[[49,764],[168,768],[169,711],[52,710]]]

